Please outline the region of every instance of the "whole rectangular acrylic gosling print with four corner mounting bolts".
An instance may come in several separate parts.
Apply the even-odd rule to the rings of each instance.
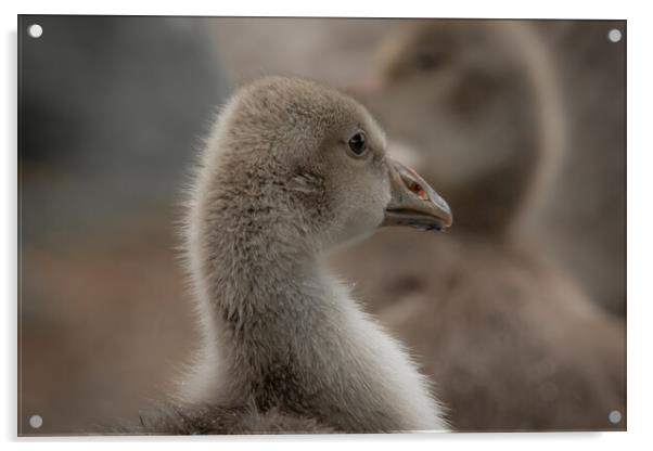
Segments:
[[[18,24],[20,435],[626,429],[625,22]]]

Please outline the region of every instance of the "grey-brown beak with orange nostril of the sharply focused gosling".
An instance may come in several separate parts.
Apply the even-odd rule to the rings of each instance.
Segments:
[[[441,231],[451,226],[449,205],[418,173],[388,159],[390,202],[383,226],[410,226],[420,230]]]

